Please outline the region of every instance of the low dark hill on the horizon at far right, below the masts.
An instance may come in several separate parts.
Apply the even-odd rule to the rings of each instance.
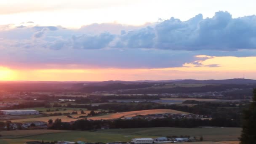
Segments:
[[[227,80],[179,80],[179,81],[175,81],[173,83],[188,83],[188,84],[240,84],[240,85],[248,85],[248,84],[256,84],[256,80],[234,78],[234,79],[227,79]]]

